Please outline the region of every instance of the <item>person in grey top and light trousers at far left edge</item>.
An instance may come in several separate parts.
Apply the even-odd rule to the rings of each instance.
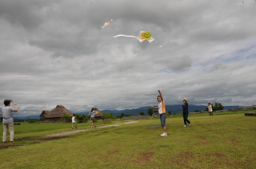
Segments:
[[[18,108],[16,104],[14,104],[14,108],[10,107],[11,100],[4,100],[3,104],[5,107],[2,107],[2,142],[6,143],[7,132],[9,129],[10,132],[10,142],[14,142],[14,118],[12,112],[18,112]]]

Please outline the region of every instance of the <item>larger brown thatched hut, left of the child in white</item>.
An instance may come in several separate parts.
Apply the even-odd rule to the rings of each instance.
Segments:
[[[67,113],[70,116],[73,116],[73,113],[70,112],[62,105],[57,105],[52,111],[44,110],[40,115],[40,120],[45,121],[46,123],[58,123],[58,122],[65,122],[62,120],[61,117]]]

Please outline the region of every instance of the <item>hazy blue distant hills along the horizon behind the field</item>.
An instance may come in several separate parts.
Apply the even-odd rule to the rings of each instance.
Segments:
[[[178,105],[166,105],[166,111],[171,111],[172,113],[181,113],[182,110],[180,109],[182,104]],[[238,108],[239,106],[224,106],[225,109],[231,109],[231,108]],[[141,108],[133,108],[133,109],[125,109],[125,110],[101,110],[101,112],[112,112],[115,116],[121,115],[121,113],[124,113],[125,115],[138,115],[138,112],[144,112],[147,114],[147,110],[150,108],[149,106],[147,107],[141,107]],[[194,112],[195,110],[205,110],[206,105],[194,105],[194,104],[189,104],[189,111]],[[88,115],[89,112],[74,112],[75,114],[86,114]],[[22,121],[22,120],[27,120],[28,116],[14,116],[14,121]],[[29,116],[30,119],[40,119],[40,115],[35,115],[35,116]]]

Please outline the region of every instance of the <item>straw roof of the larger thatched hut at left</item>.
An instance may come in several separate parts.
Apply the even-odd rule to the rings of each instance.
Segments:
[[[67,113],[70,116],[73,116],[73,113],[70,112],[68,109],[66,109],[64,106],[57,105],[56,108],[54,108],[50,112],[47,111],[47,110],[42,111],[40,117],[44,117],[44,118],[60,118],[60,117],[64,116],[65,113]]]

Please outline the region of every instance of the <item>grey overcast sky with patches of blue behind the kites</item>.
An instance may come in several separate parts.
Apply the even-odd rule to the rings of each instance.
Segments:
[[[0,100],[17,116],[256,104],[254,0],[0,0]],[[105,22],[113,22],[101,28]],[[154,41],[135,35],[149,31]],[[2,104],[3,105],[3,104]]]

